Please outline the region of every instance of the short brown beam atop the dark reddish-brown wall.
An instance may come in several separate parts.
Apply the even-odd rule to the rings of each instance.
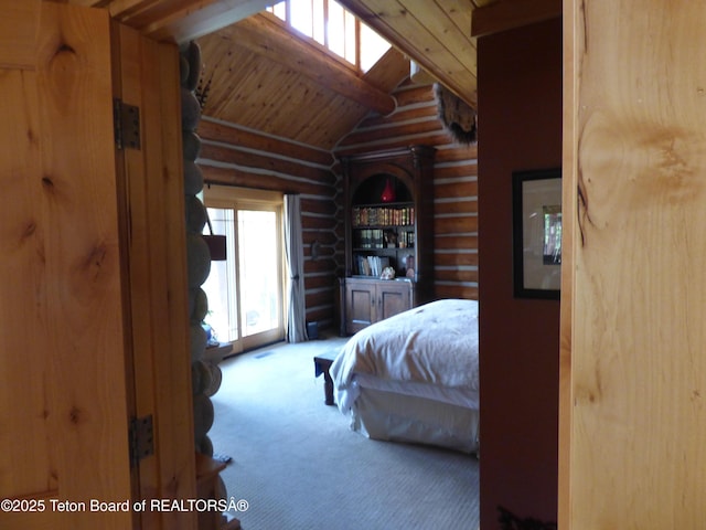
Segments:
[[[486,36],[561,17],[561,0],[500,0],[473,10],[471,36]]]

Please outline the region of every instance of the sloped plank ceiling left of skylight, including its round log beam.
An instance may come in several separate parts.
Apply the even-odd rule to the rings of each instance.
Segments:
[[[359,77],[269,13],[197,42],[208,83],[205,116],[325,150],[368,113],[392,113],[389,93],[409,75],[408,60],[392,51]]]

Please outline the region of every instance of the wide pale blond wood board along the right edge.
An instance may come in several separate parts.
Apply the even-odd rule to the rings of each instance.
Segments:
[[[559,528],[699,528],[706,9],[564,9]]]

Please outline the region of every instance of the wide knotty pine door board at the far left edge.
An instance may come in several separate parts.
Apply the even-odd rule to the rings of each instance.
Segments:
[[[90,509],[131,497],[110,20],[0,12],[0,528],[124,530]]]

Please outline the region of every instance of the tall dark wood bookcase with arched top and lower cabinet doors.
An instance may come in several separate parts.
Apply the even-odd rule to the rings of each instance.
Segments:
[[[427,146],[343,157],[341,335],[431,299],[434,156]],[[393,279],[381,279],[386,267]]]

